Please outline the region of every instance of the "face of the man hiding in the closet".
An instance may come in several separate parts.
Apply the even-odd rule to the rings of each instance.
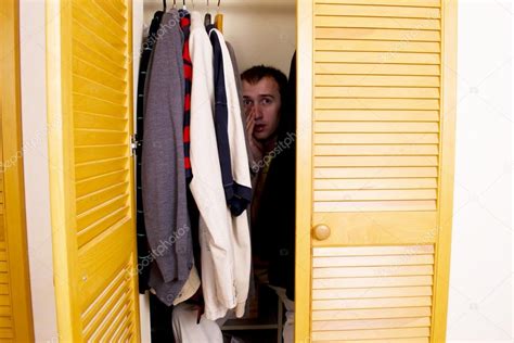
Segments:
[[[243,80],[243,102],[246,117],[254,115],[254,137],[267,141],[277,134],[280,120],[279,85],[271,77],[264,77],[256,84]]]

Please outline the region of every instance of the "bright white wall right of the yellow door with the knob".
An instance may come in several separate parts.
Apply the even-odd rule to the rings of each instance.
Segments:
[[[448,342],[512,342],[512,5],[459,1]]]

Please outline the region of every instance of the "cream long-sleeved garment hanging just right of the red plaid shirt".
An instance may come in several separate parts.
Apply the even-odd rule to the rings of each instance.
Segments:
[[[236,308],[236,315],[241,317],[244,313],[249,279],[248,221],[245,216],[232,217],[226,202],[214,124],[214,53],[198,12],[191,13],[190,53],[193,63],[191,166],[194,170],[190,189],[200,211],[198,236],[202,249],[205,316],[215,320],[223,317],[228,309]],[[230,58],[227,60],[230,61]],[[227,67],[223,64],[223,67],[233,73],[231,65]],[[239,142],[241,143],[241,140]],[[239,150],[234,149],[234,153],[236,152],[237,156],[242,155],[241,150],[246,153],[244,140]],[[244,179],[244,173],[239,169],[239,164],[235,164],[236,181],[249,187],[247,156],[246,154],[242,156],[248,173],[248,181]]]

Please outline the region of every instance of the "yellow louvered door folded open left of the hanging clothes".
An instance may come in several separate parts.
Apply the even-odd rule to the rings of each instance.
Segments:
[[[48,1],[47,39],[60,339],[137,342],[131,1]]]

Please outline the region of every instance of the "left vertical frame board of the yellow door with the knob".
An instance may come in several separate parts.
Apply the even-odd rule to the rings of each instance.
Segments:
[[[295,342],[311,339],[313,1],[296,2]]]

